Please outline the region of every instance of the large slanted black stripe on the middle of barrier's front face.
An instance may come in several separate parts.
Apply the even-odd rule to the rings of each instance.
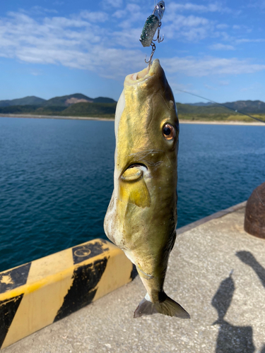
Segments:
[[[73,284],[64,297],[64,303],[57,312],[54,322],[61,320],[61,318],[74,313],[93,301],[97,292],[96,286],[105,271],[107,260],[107,258],[102,258],[94,263],[76,268],[73,272]]]

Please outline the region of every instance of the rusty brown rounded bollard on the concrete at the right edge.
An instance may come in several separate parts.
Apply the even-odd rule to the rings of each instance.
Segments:
[[[259,185],[247,200],[245,231],[265,239],[265,183]]]

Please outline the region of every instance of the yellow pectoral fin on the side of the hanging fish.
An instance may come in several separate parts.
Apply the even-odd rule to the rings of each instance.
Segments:
[[[119,181],[119,199],[142,208],[150,207],[151,198],[141,170],[131,168],[122,174]]]

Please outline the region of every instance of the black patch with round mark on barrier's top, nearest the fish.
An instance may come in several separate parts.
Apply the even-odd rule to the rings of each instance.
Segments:
[[[109,248],[103,249],[103,244],[107,244],[107,241],[104,239],[100,239],[100,241],[95,241],[95,243],[87,243],[79,246],[75,246],[73,251],[73,264],[81,263],[88,258],[93,258],[94,256],[100,255],[100,253],[104,253],[105,251],[109,251]]]

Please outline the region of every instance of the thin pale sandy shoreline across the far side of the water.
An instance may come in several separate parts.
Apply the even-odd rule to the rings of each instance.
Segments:
[[[0,114],[0,118],[30,118],[30,119],[66,119],[66,120],[102,120],[114,121],[114,118],[99,118],[93,116],[59,116],[59,115],[31,115],[31,114]],[[264,123],[253,121],[201,121],[179,119],[180,124],[211,124],[211,125],[246,125],[246,126],[265,126]]]

